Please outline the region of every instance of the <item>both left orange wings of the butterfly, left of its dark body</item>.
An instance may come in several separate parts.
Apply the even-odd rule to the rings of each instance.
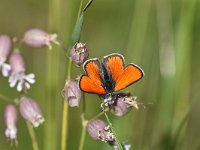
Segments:
[[[106,94],[102,86],[100,76],[100,62],[98,59],[90,59],[84,63],[86,75],[82,75],[79,80],[79,87],[82,91],[95,94]]]

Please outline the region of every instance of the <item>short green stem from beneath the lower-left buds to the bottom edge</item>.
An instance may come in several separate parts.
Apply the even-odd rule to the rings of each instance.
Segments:
[[[29,132],[29,135],[31,138],[33,150],[39,150],[37,138],[36,138],[35,131],[34,131],[32,125],[28,121],[26,121],[26,126],[28,128],[28,132]]]

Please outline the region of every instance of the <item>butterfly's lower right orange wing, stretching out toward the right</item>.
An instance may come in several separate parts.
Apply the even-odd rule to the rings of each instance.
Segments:
[[[143,70],[134,64],[129,64],[115,82],[114,91],[119,91],[137,82],[144,76]]]

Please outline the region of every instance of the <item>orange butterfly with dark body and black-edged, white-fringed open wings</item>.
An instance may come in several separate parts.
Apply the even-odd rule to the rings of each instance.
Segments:
[[[125,67],[124,57],[114,53],[99,59],[89,59],[83,64],[86,75],[79,80],[82,91],[98,95],[112,95],[137,82],[143,70],[134,64]]]

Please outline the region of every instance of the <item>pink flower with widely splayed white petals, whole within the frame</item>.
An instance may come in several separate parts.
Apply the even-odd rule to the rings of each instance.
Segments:
[[[35,75],[33,73],[25,74],[25,63],[18,52],[13,52],[10,56],[11,75],[9,77],[10,87],[17,84],[17,91],[27,91],[30,84],[35,83]]]

